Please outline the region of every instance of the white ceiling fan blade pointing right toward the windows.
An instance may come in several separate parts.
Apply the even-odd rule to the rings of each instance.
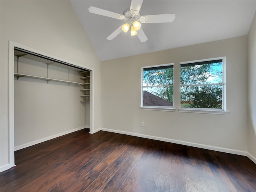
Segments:
[[[145,15],[140,17],[141,23],[170,23],[175,19],[175,14]]]

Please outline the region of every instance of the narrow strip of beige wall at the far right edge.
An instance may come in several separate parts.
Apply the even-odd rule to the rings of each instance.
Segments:
[[[256,157],[256,13],[248,34],[248,152]]]

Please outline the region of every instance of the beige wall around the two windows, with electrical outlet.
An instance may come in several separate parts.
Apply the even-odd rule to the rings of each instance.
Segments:
[[[226,56],[226,108],[230,114],[140,110],[141,67],[174,63],[175,92],[179,90],[180,62],[222,56]],[[247,36],[104,61],[101,80],[102,128],[226,148],[234,153],[247,151]],[[179,100],[176,91],[176,109]]]

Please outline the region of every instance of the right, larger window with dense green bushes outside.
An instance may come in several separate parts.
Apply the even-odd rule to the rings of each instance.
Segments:
[[[180,64],[180,108],[225,110],[225,58]]]

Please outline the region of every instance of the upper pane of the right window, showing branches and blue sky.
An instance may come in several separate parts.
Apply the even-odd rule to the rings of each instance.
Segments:
[[[216,83],[222,83],[222,62],[180,65],[181,85]]]

